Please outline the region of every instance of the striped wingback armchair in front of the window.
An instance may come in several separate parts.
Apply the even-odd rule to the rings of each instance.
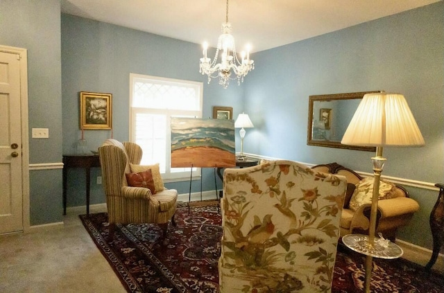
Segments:
[[[176,224],[178,192],[165,188],[153,195],[148,188],[128,186],[126,174],[140,163],[142,148],[136,143],[108,139],[99,148],[99,157],[110,222],[108,240],[112,241],[116,223],[157,223],[165,236],[169,220]]]

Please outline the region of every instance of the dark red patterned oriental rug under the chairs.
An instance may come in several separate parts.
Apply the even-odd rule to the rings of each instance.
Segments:
[[[219,292],[221,215],[218,206],[180,203],[177,227],[162,238],[155,224],[117,225],[107,242],[108,215],[80,215],[85,228],[128,292]],[[333,293],[364,292],[365,257],[339,245]],[[371,292],[444,292],[444,276],[399,258],[374,259]],[[284,292],[282,292],[284,293]]]

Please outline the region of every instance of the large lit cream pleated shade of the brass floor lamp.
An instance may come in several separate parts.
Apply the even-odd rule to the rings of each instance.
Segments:
[[[424,139],[401,94],[366,94],[341,143],[366,146],[420,146]]]

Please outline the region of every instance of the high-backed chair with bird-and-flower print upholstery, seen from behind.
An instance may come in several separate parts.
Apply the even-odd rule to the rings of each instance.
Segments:
[[[331,292],[345,177],[271,161],[223,184],[221,292]]]

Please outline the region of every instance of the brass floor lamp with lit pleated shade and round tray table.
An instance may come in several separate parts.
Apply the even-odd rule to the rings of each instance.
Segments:
[[[386,161],[382,157],[382,148],[421,146],[425,142],[404,96],[380,92],[364,95],[341,143],[376,147],[376,156],[372,158],[375,180],[368,236],[350,234],[343,237],[346,246],[366,255],[365,292],[370,292],[372,258],[398,258],[402,255],[398,245],[382,237],[375,238],[379,180]]]

